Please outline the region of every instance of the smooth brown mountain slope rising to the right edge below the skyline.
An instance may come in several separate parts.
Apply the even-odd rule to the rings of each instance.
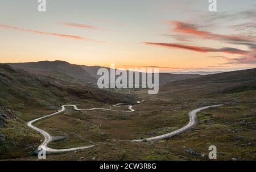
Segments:
[[[183,94],[187,96],[238,93],[241,91],[255,90],[256,68],[203,75],[198,78],[184,79],[182,81],[168,82],[160,87],[162,95]]]

